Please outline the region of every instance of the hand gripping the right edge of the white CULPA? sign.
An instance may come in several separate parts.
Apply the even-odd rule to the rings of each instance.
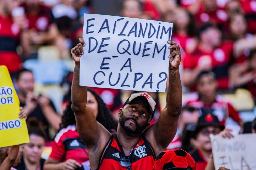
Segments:
[[[167,43],[171,45],[169,47],[170,55],[168,56],[170,58],[169,69],[177,70],[177,69],[179,69],[179,65],[181,63],[180,47],[174,41],[168,41]]]

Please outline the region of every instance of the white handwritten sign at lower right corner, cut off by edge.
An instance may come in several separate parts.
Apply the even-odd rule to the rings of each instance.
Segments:
[[[215,169],[256,170],[256,134],[240,134],[232,139],[211,135]]]

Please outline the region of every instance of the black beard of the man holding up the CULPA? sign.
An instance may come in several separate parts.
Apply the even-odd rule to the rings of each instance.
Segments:
[[[135,125],[136,125],[135,130],[132,130],[129,126],[126,126],[126,125],[125,125],[125,122],[128,121],[128,120],[133,120],[133,121],[135,122]],[[127,131],[127,132],[129,132],[129,133],[131,133],[131,134],[140,134],[140,133],[142,133],[142,132],[144,131],[144,129],[146,129],[146,127],[147,127],[147,125],[145,125],[145,126],[143,126],[143,127],[140,126],[140,125],[137,123],[137,120],[136,120],[135,118],[133,118],[133,117],[131,117],[131,118],[126,118],[126,117],[124,117],[123,111],[122,111],[122,113],[121,113],[121,115],[120,115],[119,123],[120,123],[121,127],[122,127],[125,131]]]

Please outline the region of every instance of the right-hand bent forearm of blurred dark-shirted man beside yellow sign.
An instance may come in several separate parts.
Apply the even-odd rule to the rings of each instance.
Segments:
[[[42,111],[49,124],[55,130],[58,130],[60,128],[59,124],[61,123],[61,117],[57,115],[54,109],[49,105],[42,107]]]

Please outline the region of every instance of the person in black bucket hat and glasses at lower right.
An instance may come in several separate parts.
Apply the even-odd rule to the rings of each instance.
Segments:
[[[210,140],[210,134],[222,135],[223,137],[231,138],[233,135],[230,133],[230,129],[222,130],[222,125],[216,116],[209,114],[203,114],[197,122],[197,127],[194,133],[194,140],[198,143],[199,148],[190,155],[196,162],[196,170],[205,170],[207,162],[212,154],[212,145]]]

